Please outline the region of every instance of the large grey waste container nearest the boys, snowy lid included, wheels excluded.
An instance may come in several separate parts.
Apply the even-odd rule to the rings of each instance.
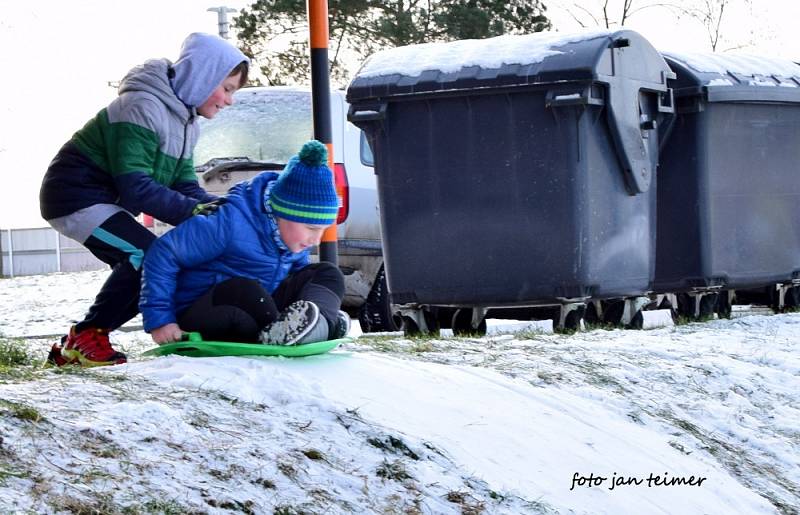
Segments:
[[[522,306],[646,292],[661,55],[632,31],[372,56],[347,90],[375,155],[396,304]]]

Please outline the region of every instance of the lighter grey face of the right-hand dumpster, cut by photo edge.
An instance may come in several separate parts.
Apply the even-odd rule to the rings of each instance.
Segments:
[[[800,271],[800,105],[709,106],[709,259],[734,288]]]

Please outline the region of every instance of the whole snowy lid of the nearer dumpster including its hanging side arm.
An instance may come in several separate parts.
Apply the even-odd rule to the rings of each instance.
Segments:
[[[626,186],[636,195],[650,188],[658,161],[649,146],[656,120],[642,114],[641,92],[655,92],[659,111],[672,112],[671,78],[674,74],[661,54],[630,30],[412,45],[384,50],[364,63],[347,89],[348,120],[362,128],[382,123],[393,97],[548,85],[552,89],[544,107],[606,106]],[[604,96],[595,97],[595,84],[607,86]]]

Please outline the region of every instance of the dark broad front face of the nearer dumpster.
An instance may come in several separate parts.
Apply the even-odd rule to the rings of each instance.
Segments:
[[[545,92],[389,104],[375,138],[387,279],[397,303],[576,295],[578,110]]]

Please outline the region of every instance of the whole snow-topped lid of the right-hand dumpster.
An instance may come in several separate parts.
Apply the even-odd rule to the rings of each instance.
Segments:
[[[800,102],[800,65],[788,59],[743,54],[664,51],[676,74],[676,97],[708,102]]]

